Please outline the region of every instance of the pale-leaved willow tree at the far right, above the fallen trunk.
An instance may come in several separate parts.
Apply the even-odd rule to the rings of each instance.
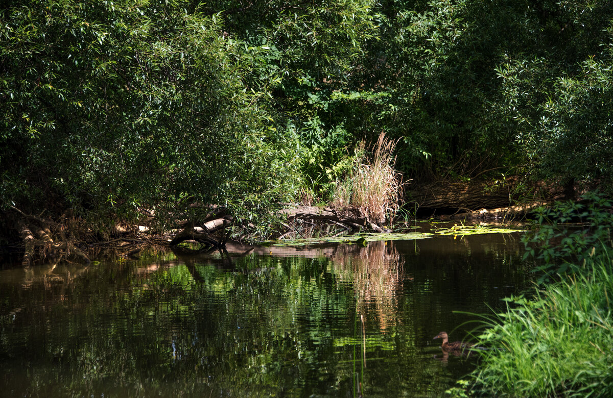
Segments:
[[[576,180],[610,181],[613,5],[543,2],[536,11],[539,51],[505,55],[497,68],[500,115],[534,176],[569,189]]]

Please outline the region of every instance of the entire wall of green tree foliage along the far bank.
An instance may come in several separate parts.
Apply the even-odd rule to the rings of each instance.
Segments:
[[[381,132],[421,181],[611,181],[612,16],[604,0],[12,2],[0,200],[254,217],[329,200]]]

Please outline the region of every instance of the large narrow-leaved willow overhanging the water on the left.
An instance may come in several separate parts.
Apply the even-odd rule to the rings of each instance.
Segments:
[[[221,15],[47,0],[0,20],[0,201],[22,238],[66,209],[98,228],[189,203],[249,218],[291,192],[292,152],[245,78],[267,49],[226,37]]]

